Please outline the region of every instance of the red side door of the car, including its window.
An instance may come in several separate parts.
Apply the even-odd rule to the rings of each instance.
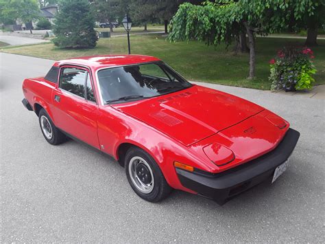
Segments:
[[[73,137],[99,148],[98,106],[90,69],[65,65],[52,93],[56,126]]]

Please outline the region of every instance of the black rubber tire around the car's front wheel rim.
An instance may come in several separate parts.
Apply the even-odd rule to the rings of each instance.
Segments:
[[[130,175],[130,164],[131,160],[134,159],[134,157],[141,157],[145,160],[149,168],[152,170],[153,175],[153,181],[154,186],[152,187],[152,191],[149,193],[144,193],[136,186],[134,181],[132,181],[132,175]],[[139,197],[142,199],[145,199],[146,201],[151,202],[158,202],[163,199],[165,199],[169,193],[171,192],[172,188],[167,183],[163,173],[161,172],[158,164],[154,161],[154,159],[145,151],[143,151],[141,148],[132,147],[128,150],[128,152],[125,155],[125,173],[126,177],[128,177],[128,181],[134,192],[136,192]],[[132,166],[131,166],[132,168]],[[148,168],[148,169],[149,169]],[[134,177],[133,177],[134,179]]]

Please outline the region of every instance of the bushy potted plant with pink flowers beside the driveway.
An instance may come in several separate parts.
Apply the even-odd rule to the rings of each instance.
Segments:
[[[313,51],[307,47],[283,47],[269,60],[272,90],[296,91],[313,87],[316,69]]]

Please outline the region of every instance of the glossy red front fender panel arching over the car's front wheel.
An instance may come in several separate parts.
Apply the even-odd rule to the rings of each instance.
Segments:
[[[112,107],[99,109],[97,133],[101,150],[115,159],[119,159],[119,146],[122,144],[128,143],[143,149],[157,162],[172,188],[190,191],[180,184],[173,166],[175,161],[206,171],[216,167],[207,157],[198,155],[154,127]]]

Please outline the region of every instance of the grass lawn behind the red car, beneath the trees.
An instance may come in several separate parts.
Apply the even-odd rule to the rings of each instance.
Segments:
[[[169,43],[160,34],[130,36],[132,54],[147,54],[165,60],[174,69],[189,80],[212,82],[222,85],[269,89],[269,59],[283,45],[304,43],[300,39],[257,38],[256,41],[256,79],[247,80],[248,54],[237,54],[227,51],[224,45],[207,47],[204,43]],[[325,84],[325,41],[313,48],[317,84]],[[95,49],[59,49],[53,44],[29,45],[21,47],[3,47],[2,52],[23,54],[40,58],[60,60],[76,56],[96,54],[126,54],[127,41],[125,36],[100,39]]]

